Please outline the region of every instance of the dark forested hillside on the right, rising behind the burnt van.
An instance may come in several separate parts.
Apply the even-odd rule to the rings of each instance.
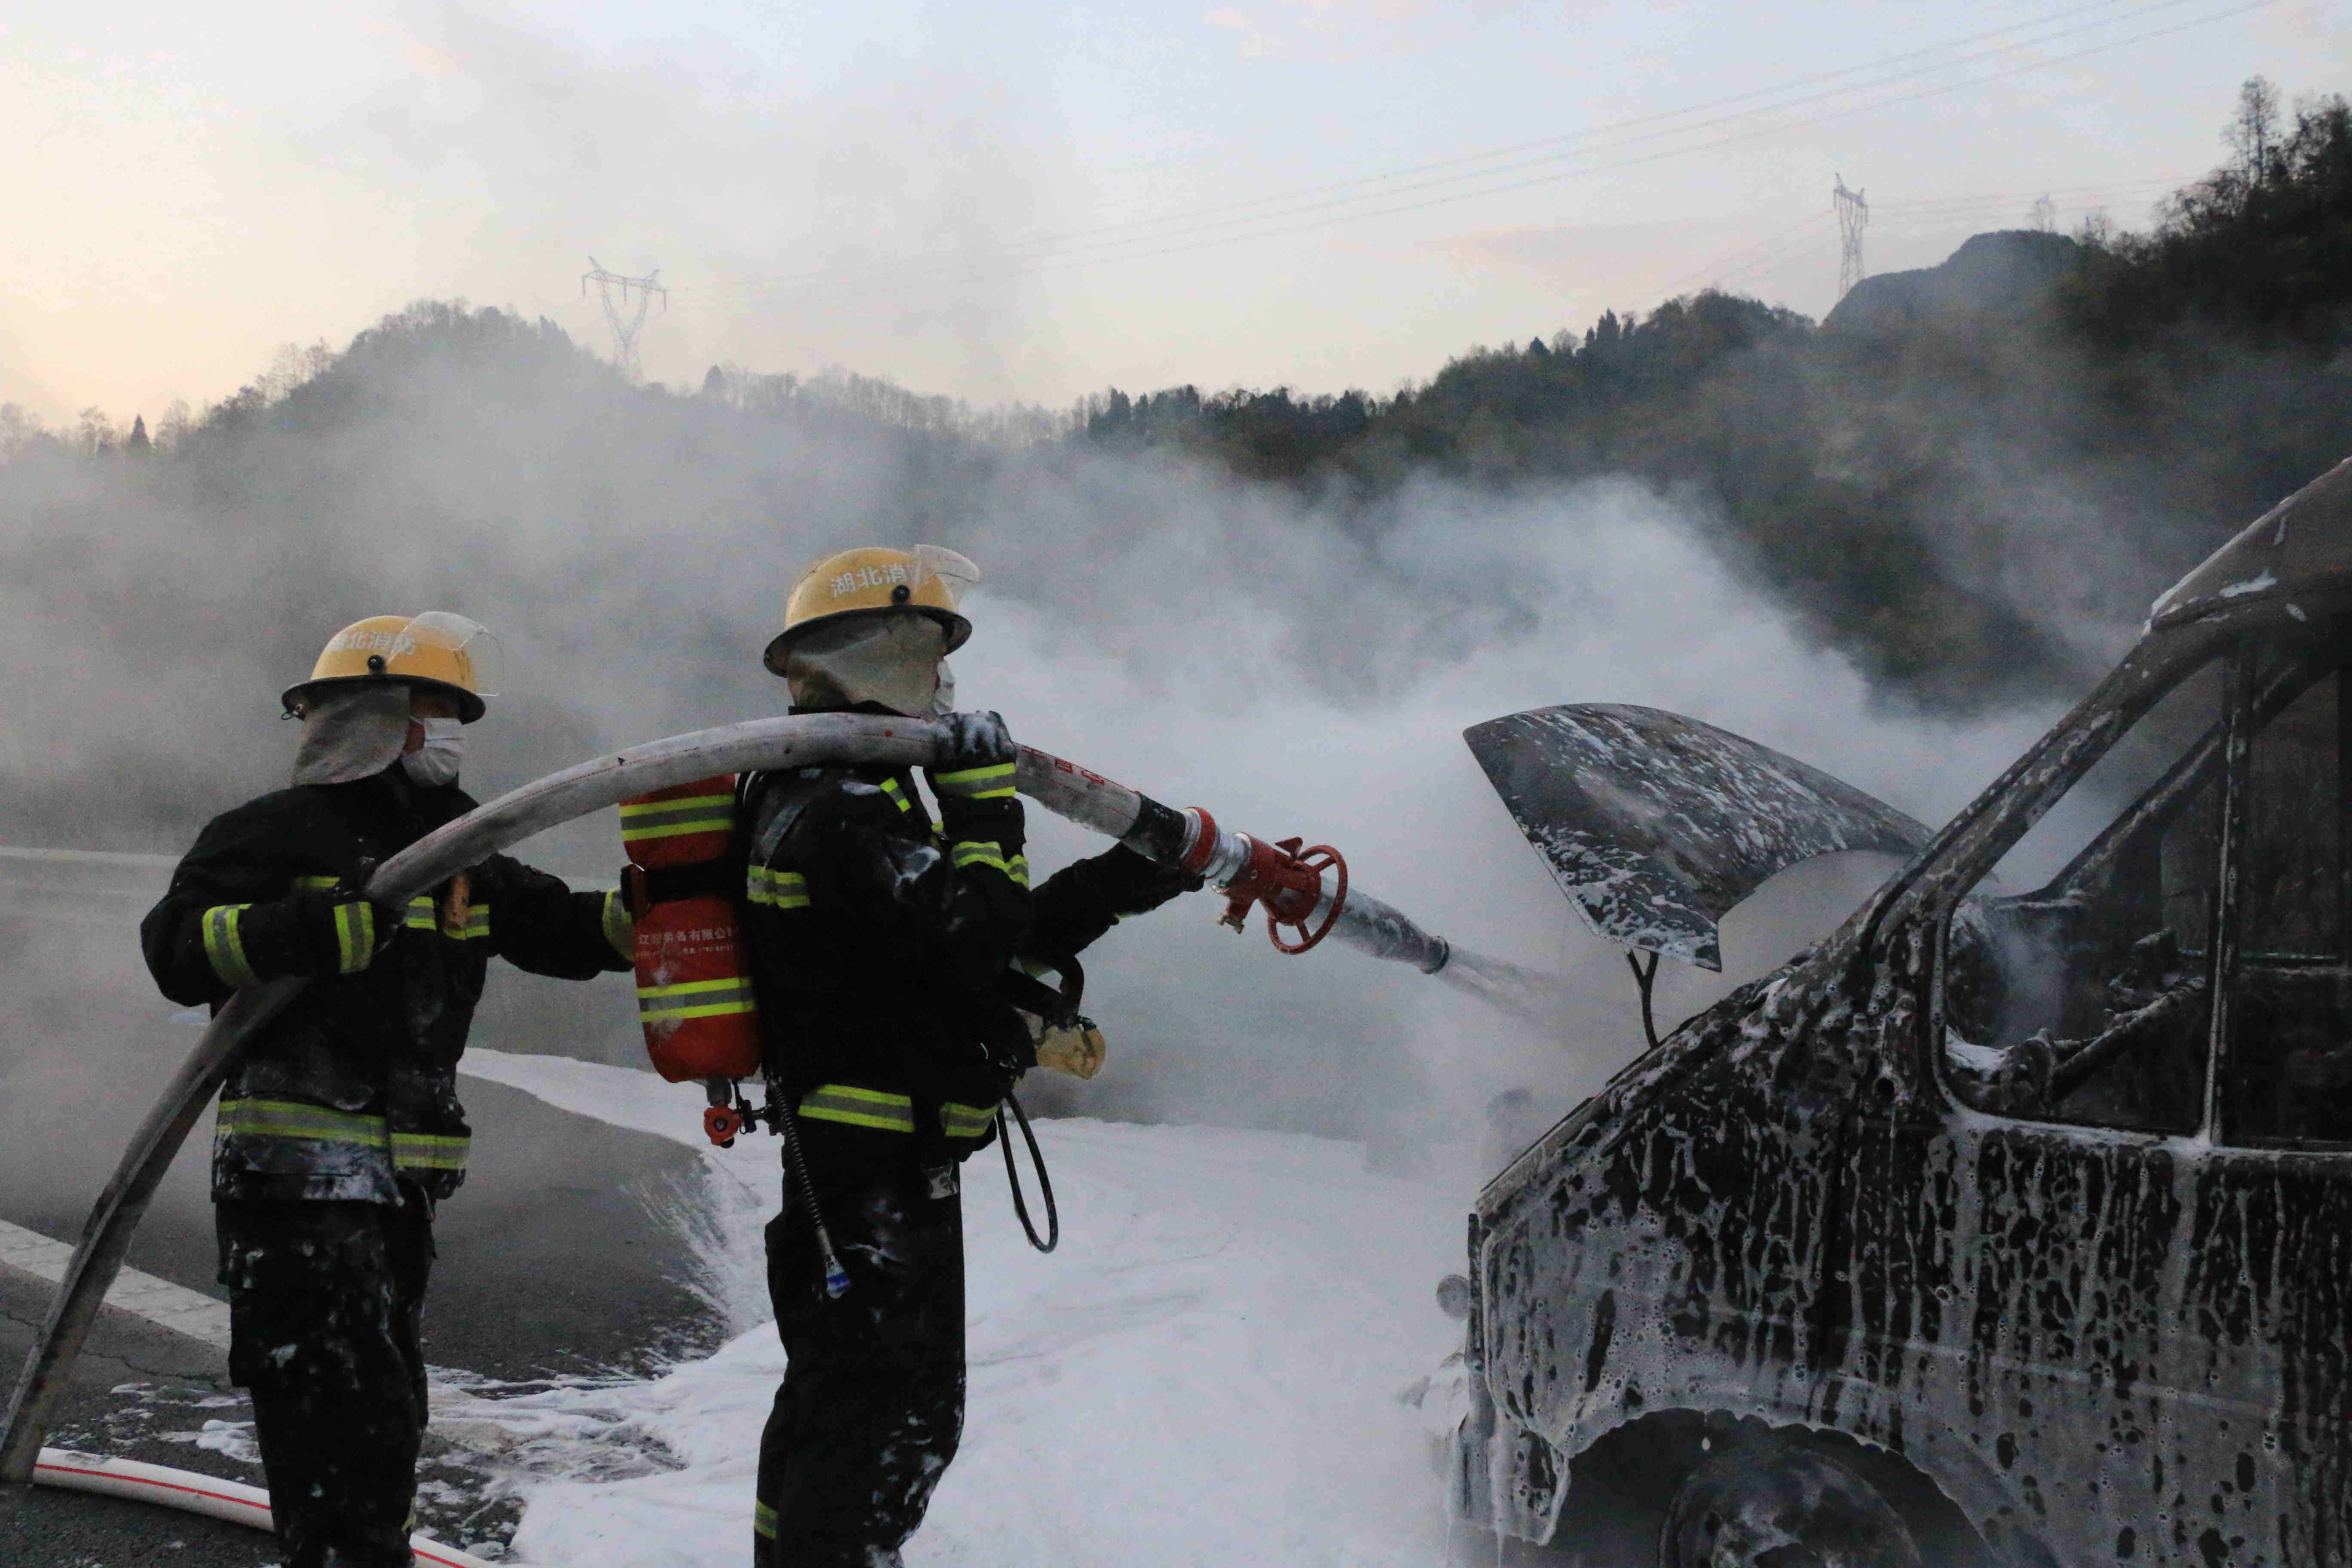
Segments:
[[[2249,82],[2227,143],[2145,235],[1980,235],[1950,280],[1865,280],[1820,327],[1705,292],[1388,400],[1112,390],[1084,440],[1367,517],[1421,473],[1630,473],[1891,691],[2079,686],[2157,590],[2352,454],[2352,110],[2284,125]]]

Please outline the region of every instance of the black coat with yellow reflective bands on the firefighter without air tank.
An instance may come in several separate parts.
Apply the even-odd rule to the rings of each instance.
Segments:
[[[238,985],[313,976],[221,1088],[214,1197],[397,1204],[402,1180],[447,1197],[466,1180],[456,1063],[492,954],[567,980],[628,969],[614,896],[492,856],[405,910],[379,910],[374,922],[397,929],[374,961],[343,973],[334,889],[358,889],[374,863],[473,804],[456,785],[412,783],[395,762],[223,811],[172,872],[139,926],[165,997],[219,1011]]]

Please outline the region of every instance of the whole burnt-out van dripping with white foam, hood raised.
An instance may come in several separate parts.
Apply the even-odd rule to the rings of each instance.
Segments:
[[[1672,715],[1472,729],[1653,954],[1912,853],[1479,1194],[1454,1507],[1611,1566],[2352,1563],[2347,661],[2352,463],[1933,835]]]

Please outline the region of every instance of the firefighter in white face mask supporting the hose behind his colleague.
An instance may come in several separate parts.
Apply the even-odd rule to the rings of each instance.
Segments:
[[[212,818],[139,931],[172,1001],[310,980],[230,1067],[212,1145],[228,1366],[289,1568],[409,1563],[433,1208],[466,1180],[456,1063],[492,954],[572,980],[628,969],[619,898],[508,856],[405,907],[360,893],[473,809],[456,776],[494,656],[449,614],[336,632],[282,698],[289,788]]]

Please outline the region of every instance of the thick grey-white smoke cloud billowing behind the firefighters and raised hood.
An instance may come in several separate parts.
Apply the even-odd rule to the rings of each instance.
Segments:
[[[19,451],[0,465],[0,656],[19,675],[0,839],[181,851],[205,818],[285,780],[278,691],[332,630],[388,609],[456,609],[501,635],[508,691],[468,752],[482,797],[630,741],[781,712],[760,649],[797,567],[858,541],[946,543],[988,574],[955,661],[967,708],[1171,804],[1338,844],[1362,886],[1566,973],[1585,999],[1562,1037],[1536,1039],[1345,950],[1279,957],[1192,898],[1091,954],[1110,1070],[1040,1086],[1040,1107],[1371,1138],[1411,1159],[1479,1138],[1515,1088],[1550,1121],[1639,1046],[1618,952],[1550,884],[1463,726],[1651,703],[1940,820],[2051,717],[1889,710],[1726,569],[1703,512],[1644,484],[1430,477],[1369,520],[1345,496],[1181,456],[985,440],[953,409],[875,418],[854,393],[750,376],[699,397],[630,388],[550,329],[419,308],[167,456]],[[1098,846],[1056,820],[1033,835],[1040,870]],[[609,875],[619,835],[590,820],[522,853]],[[1731,924],[1726,976],[1661,978],[1668,1023],[1835,926],[1884,875],[1799,870]],[[160,1018],[134,917],[125,900],[73,940],[106,945],[115,1006]],[[12,976],[56,973],[38,924],[7,957]],[[28,1107],[14,1086],[59,1058],[89,1070],[125,1051],[127,1088],[160,1081],[151,1058],[179,1041],[94,1039],[59,1006],[14,987],[7,1105]],[[501,976],[475,1039],[640,1060],[621,980]]]

